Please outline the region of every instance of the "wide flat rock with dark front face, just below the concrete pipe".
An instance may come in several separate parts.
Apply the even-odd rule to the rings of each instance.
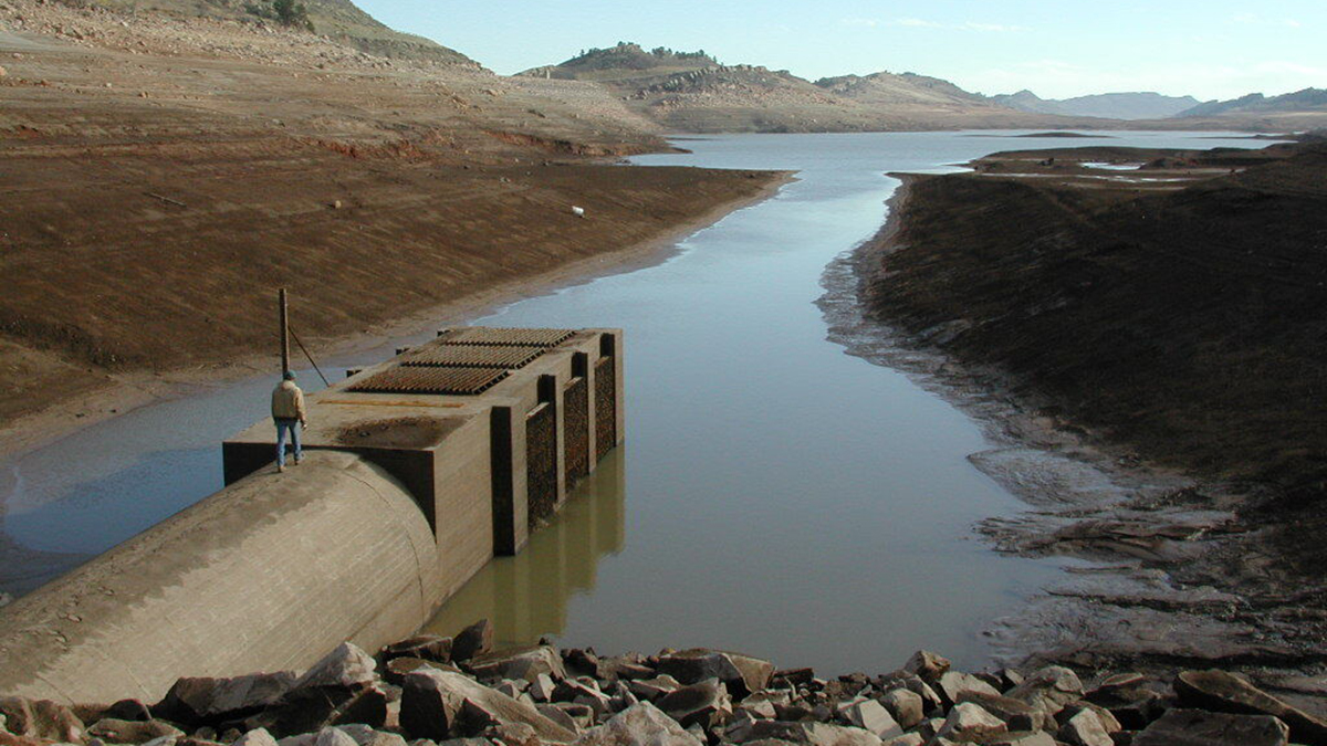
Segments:
[[[218,725],[245,718],[284,697],[295,686],[293,672],[253,673],[231,678],[179,678],[154,710],[188,726]],[[117,717],[106,713],[106,717]],[[130,718],[119,718],[130,719]]]

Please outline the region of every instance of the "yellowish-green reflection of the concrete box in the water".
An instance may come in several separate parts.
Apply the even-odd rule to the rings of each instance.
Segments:
[[[567,628],[567,607],[594,589],[598,563],[626,543],[626,446],[581,481],[553,522],[515,558],[498,558],[438,611],[425,632],[454,634],[478,619],[502,644],[525,645]]]

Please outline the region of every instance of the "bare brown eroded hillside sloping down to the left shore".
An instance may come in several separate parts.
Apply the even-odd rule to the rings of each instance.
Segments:
[[[223,366],[269,357],[277,287],[325,350],[602,271],[784,179],[609,165],[666,145],[569,81],[27,0],[0,23],[7,451],[247,372]]]

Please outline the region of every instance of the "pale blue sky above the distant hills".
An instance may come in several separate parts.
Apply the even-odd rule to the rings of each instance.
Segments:
[[[1047,98],[1327,88],[1327,1],[357,0],[503,74],[637,41],[815,80],[916,72]]]

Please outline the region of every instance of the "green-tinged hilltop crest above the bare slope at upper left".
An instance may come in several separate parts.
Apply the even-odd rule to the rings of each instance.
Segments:
[[[281,25],[280,13],[272,0],[82,0],[81,7],[105,8],[134,16],[166,15],[178,19],[218,19],[272,23]],[[300,0],[312,24],[312,32],[348,44],[361,52],[399,60],[430,60],[437,62],[478,66],[460,52],[449,49],[422,36],[401,33],[361,11],[350,0]],[[296,19],[289,19],[295,21]],[[289,25],[295,25],[293,23]]]

